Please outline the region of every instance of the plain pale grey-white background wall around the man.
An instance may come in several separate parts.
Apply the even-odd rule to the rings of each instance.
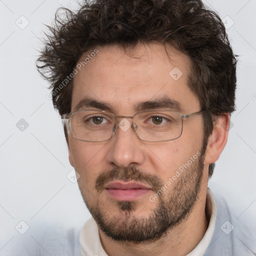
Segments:
[[[240,55],[237,110],[209,187],[256,229],[256,0],[204,2],[224,19]],[[62,124],[34,64],[43,24],[51,23],[61,5],[76,6],[68,0],[0,0],[0,255],[25,238],[39,246],[45,226],[80,228],[90,216],[77,183],[66,176],[72,167]],[[23,131],[21,118],[28,123]],[[29,226],[23,235],[27,227],[21,220]]]

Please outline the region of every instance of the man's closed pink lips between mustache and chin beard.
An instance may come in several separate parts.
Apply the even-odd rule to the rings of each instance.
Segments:
[[[152,188],[138,182],[112,181],[107,183],[105,191],[118,201],[134,201],[152,191]]]

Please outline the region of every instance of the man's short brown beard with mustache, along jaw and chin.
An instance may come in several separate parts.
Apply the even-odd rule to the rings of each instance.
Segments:
[[[99,200],[90,202],[86,200],[86,196],[82,195],[98,227],[116,241],[137,243],[162,237],[191,213],[197,201],[201,187],[205,148],[206,144],[203,143],[201,155],[166,189],[167,191],[171,188],[171,193],[163,192],[157,198],[156,206],[147,217],[134,214],[139,206],[143,206],[139,201],[116,201],[118,213],[111,216]],[[106,182],[116,179],[150,184],[154,191],[158,191],[164,184],[156,175],[149,175],[135,167],[112,169],[97,177],[95,183],[97,195],[104,190],[103,186]]]

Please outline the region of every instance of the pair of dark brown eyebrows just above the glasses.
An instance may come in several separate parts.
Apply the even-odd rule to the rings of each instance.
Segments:
[[[74,111],[84,108],[112,111],[111,104],[90,97],[84,97],[81,99],[79,103],[74,107]],[[133,105],[133,108],[137,112],[161,108],[180,112],[182,109],[178,101],[171,99],[166,95],[153,100],[138,102],[137,104]]]

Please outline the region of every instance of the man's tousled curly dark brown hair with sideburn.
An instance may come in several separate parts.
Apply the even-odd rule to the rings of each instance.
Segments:
[[[207,110],[205,138],[212,133],[214,116],[235,110],[236,55],[220,17],[201,0],[85,0],[76,12],[58,9],[48,29],[36,66],[50,83],[59,114],[71,111],[73,79],[67,75],[82,53],[106,44],[125,49],[150,41],[171,44],[189,56],[188,86],[201,110]],[[213,168],[214,163],[209,176]]]

